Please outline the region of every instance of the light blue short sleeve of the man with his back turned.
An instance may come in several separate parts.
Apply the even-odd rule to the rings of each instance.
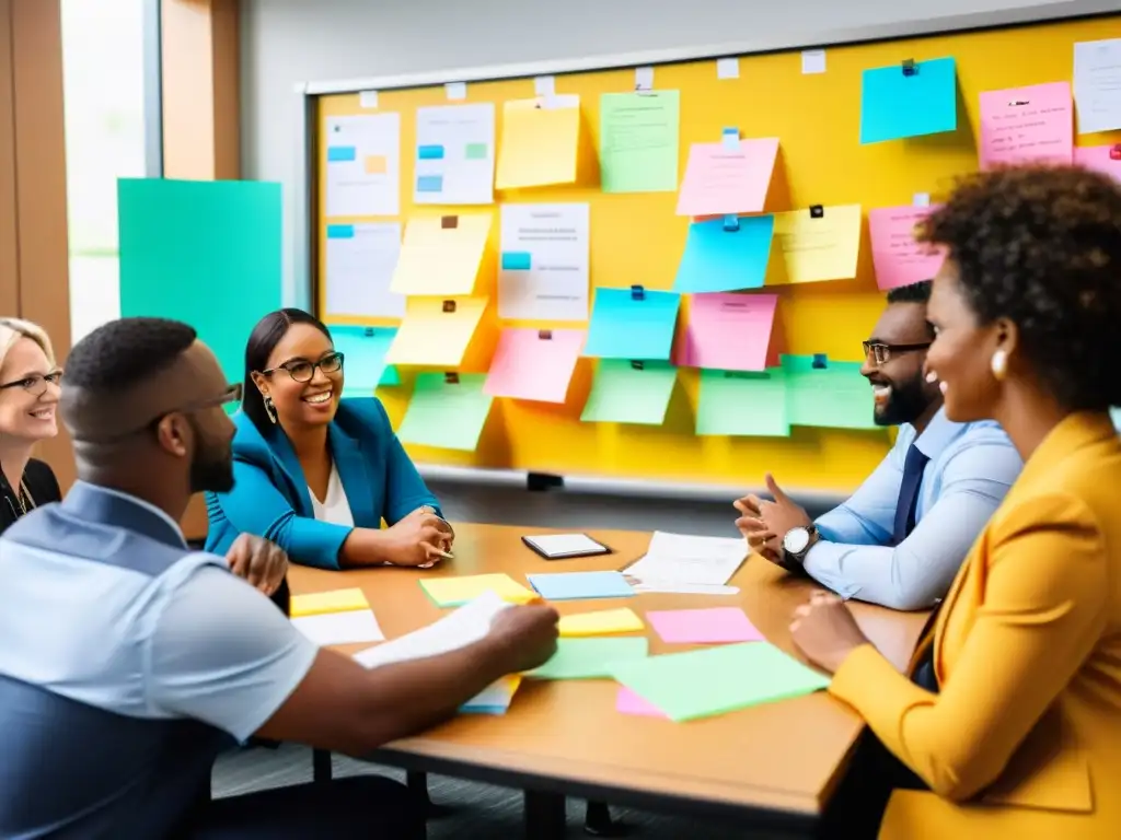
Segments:
[[[148,703],[245,740],[307,675],[318,648],[267,597],[214,566],[167,596],[148,651]]]

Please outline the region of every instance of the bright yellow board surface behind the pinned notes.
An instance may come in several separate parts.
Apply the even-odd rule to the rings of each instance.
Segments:
[[[840,47],[827,50],[827,72],[803,75],[800,54],[750,56],[740,60],[740,78],[719,81],[714,60],[659,66],[655,87],[680,90],[680,174],[689,143],[717,141],[721,129],[734,125],[741,137],[778,137],[779,161],[768,211],[812,204],[854,204],[870,207],[904,205],[916,193],[937,199],[953,178],[976,169],[978,96],[982,91],[1069,80],[1076,41],[1121,37],[1121,17],[971,32],[945,37]],[[953,56],[957,60],[961,94],[958,130],[896,142],[859,142],[860,80],[868,67]],[[557,93],[581,94],[585,134],[597,144],[600,94],[633,88],[633,69],[558,76]],[[493,102],[501,136],[502,103],[534,95],[531,78],[467,85],[467,102]],[[399,111],[401,120],[401,216],[413,213],[411,184],[416,137],[413,114],[424,105],[450,104],[443,86],[383,91],[379,111]],[[325,118],[370,113],[358,94],[319,100],[321,131]],[[1121,132],[1082,136],[1081,144],[1121,142]],[[325,144],[318,153],[319,207],[325,205]],[[594,164],[593,164],[594,165]],[[592,172],[594,176],[594,172]],[[498,202],[589,202],[591,204],[592,286],[671,289],[688,220],[675,215],[676,194],[603,195],[594,181],[585,186],[510,190]],[[479,208],[485,212],[487,208]],[[498,244],[498,212],[492,245]],[[439,208],[425,207],[425,214]],[[448,212],[448,211],[445,211]],[[455,212],[455,211],[450,211]],[[461,208],[460,212],[467,212]],[[475,212],[472,208],[470,212]],[[325,222],[322,209],[316,234],[319,278],[325,277]],[[332,218],[333,222],[369,221]],[[772,252],[772,262],[781,258]],[[493,273],[484,276],[476,295],[495,289]],[[332,315],[322,311],[321,315]],[[856,280],[800,287],[776,287],[780,296],[776,332],[784,352],[827,353],[837,360],[860,360],[867,337],[882,306],[871,270],[867,224]],[[492,306],[493,309],[493,306]],[[687,317],[683,312],[680,324]],[[333,318],[336,321],[365,323]],[[369,321],[376,324],[378,321]],[[382,321],[385,323],[385,321]],[[520,323],[510,321],[509,326]],[[534,323],[532,326],[538,326]],[[573,326],[556,324],[555,326]],[[485,323],[463,370],[485,370],[495,321]],[[582,360],[567,404],[495,400],[474,452],[410,448],[421,463],[511,467],[568,475],[650,477],[754,486],[772,470],[790,487],[845,491],[876,466],[888,440],[880,432],[795,428],[789,439],[700,438],[693,433],[697,399],[696,371],[682,370],[679,386],[658,428],[581,423],[580,414],[591,382],[591,361]],[[395,423],[408,404],[409,372],[402,385],[378,392]],[[869,400],[871,411],[871,399]]]

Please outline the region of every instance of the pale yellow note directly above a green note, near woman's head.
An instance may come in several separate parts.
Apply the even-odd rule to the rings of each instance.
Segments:
[[[487,298],[409,298],[386,354],[388,364],[454,370],[487,309]]]

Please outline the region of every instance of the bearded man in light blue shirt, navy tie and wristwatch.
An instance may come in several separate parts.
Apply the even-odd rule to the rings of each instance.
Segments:
[[[816,522],[769,474],[773,502],[735,503],[736,526],[760,554],[844,598],[895,609],[924,609],[946,594],[1023,466],[997,423],[946,419],[923,372],[934,338],[929,296],[929,281],[892,289],[864,342],[876,422],[900,428],[860,488]]]

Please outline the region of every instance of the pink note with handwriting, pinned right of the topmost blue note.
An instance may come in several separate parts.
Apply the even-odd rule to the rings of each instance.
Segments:
[[[1074,160],[1069,82],[981,94],[981,169]]]

